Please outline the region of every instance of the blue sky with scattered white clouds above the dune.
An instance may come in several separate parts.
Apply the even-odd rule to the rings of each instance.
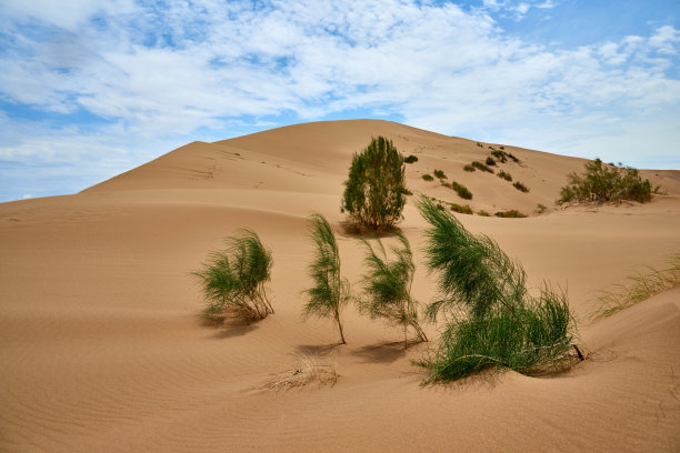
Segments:
[[[0,201],[380,118],[680,169],[680,2],[2,0]]]

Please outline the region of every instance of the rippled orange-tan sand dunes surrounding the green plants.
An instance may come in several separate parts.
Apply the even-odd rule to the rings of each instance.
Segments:
[[[352,153],[379,134],[419,158],[407,165],[414,193],[466,204],[421,179],[441,169],[476,211],[549,208],[459,219],[517,256],[531,285],[568,288],[587,361],[423,389],[410,360],[434,342],[404,353],[399,329],[352,306],[347,345],[330,322],[302,322],[312,211],[333,224],[346,275],[361,275],[339,205]],[[680,251],[680,171],[644,171],[669,193],[644,205],[556,210],[583,160],[506,145],[522,164],[501,169],[521,193],[463,172],[488,145],[392,122],[310,123],[194,142],[76,195],[0,204],[0,451],[680,451],[680,289],[589,324],[598,290]],[[424,302],[427,225],[412,202],[404,217]],[[189,272],[242,226],[273,251],[277,312],[204,326]],[[303,355],[332,364],[336,385],[263,389]]]

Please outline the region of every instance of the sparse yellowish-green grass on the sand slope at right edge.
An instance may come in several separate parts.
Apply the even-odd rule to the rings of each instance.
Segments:
[[[617,284],[613,290],[601,291],[597,298],[598,306],[592,313],[592,321],[611,316],[678,285],[680,285],[680,253],[674,253],[669,259],[668,268],[658,270],[648,266],[643,273],[638,272],[627,276],[624,282]]]

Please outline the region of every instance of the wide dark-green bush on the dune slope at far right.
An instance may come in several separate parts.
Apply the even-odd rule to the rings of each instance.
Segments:
[[[570,173],[568,180],[569,184],[562,188],[558,204],[622,200],[644,203],[651,200],[651,183],[642,180],[637,169],[607,165],[600,159],[587,162],[583,174]]]

